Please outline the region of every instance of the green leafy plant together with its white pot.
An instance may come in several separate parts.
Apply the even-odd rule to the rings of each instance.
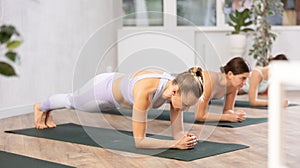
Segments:
[[[249,9],[235,10],[229,14],[229,26],[234,28],[231,32],[229,43],[232,56],[243,56],[247,47],[247,32],[253,31],[249,26],[252,25]]]

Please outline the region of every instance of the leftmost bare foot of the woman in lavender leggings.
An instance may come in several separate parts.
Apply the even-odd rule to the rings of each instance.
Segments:
[[[33,106],[34,109],[34,125],[37,129],[45,129],[48,128],[46,125],[46,117],[47,113],[43,112],[40,109],[40,103],[36,103]]]

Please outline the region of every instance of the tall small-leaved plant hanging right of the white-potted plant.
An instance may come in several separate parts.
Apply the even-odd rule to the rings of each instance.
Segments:
[[[251,13],[255,25],[254,42],[249,50],[249,56],[252,56],[259,66],[268,65],[268,57],[271,54],[273,42],[277,35],[272,32],[271,24],[267,18],[273,16],[275,12],[282,15],[284,11],[282,0],[253,0]]]

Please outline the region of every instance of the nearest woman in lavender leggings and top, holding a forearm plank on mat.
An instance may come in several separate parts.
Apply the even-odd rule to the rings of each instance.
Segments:
[[[132,75],[103,73],[95,76],[81,89],[69,94],[56,94],[34,105],[34,124],[37,129],[53,128],[50,112],[69,108],[81,111],[101,111],[129,108],[132,111],[132,129],[138,148],[189,149],[197,138],[184,133],[182,111],[195,103],[203,93],[202,72],[187,71],[176,77],[160,70],[142,70]],[[170,103],[172,135],[175,140],[146,137],[147,113]]]

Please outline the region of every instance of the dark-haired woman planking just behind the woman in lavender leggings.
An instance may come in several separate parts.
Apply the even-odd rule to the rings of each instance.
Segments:
[[[234,111],[234,102],[239,89],[245,85],[250,68],[242,57],[231,59],[220,72],[203,71],[203,95],[199,99],[195,111],[197,121],[230,121],[245,120],[245,112]],[[206,111],[210,100],[224,98],[222,114]]]

